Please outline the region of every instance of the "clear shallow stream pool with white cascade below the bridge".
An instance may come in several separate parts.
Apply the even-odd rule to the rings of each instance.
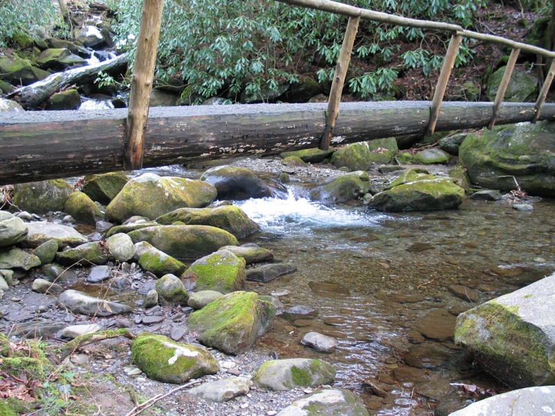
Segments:
[[[432,415],[436,406],[460,404],[467,397],[451,383],[503,390],[454,345],[454,317],[554,272],[554,200],[533,199],[532,212],[467,200],[454,211],[383,214],[310,202],[302,184],[288,190],[286,199],[235,202],[262,227],[241,243],[257,243],[297,267],[249,288],[264,295],[287,289],[280,297],[286,309],[306,305],[318,315],[279,318],[257,348],[333,363],[336,385],[359,392],[377,415]],[[478,299],[452,294],[454,285]],[[303,347],[308,331],[333,336],[339,347],[332,354]],[[388,395],[370,394],[368,378]]]

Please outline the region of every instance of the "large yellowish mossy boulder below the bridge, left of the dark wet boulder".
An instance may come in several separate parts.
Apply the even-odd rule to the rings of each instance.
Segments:
[[[153,220],[178,208],[205,207],[214,198],[216,189],[206,182],[144,173],[126,183],[106,207],[105,216],[118,223],[135,215]]]

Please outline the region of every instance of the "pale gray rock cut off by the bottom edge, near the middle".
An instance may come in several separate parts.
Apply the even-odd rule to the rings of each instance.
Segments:
[[[364,401],[350,390],[325,388],[293,401],[276,416],[368,416]]]

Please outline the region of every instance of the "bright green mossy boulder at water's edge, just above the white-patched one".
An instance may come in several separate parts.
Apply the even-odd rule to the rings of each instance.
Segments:
[[[245,352],[275,320],[275,306],[254,292],[233,292],[189,315],[189,329],[198,340],[225,354]]]

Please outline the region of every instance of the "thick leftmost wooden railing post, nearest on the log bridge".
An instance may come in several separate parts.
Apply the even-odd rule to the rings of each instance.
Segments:
[[[144,0],[127,115],[127,139],[123,155],[126,169],[140,169],[143,166],[144,134],[163,8],[164,0]]]

